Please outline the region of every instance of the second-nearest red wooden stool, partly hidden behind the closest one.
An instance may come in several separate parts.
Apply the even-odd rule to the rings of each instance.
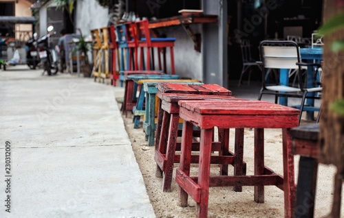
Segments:
[[[163,111],[162,125],[160,130],[160,140],[158,140],[158,146],[155,147],[155,162],[157,163],[156,175],[162,176],[163,179],[163,191],[171,191],[171,181],[173,174],[173,164],[180,162],[180,155],[175,154],[175,151],[180,151],[180,142],[177,142],[177,132],[179,124],[179,105],[178,101],[181,100],[244,100],[230,96],[217,96],[217,95],[191,95],[191,94],[176,94],[176,93],[160,93],[158,95],[161,104],[161,110]],[[161,119],[161,118],[160,118]],[[238,129],[238,132],[243,129]],[[219,156],[212,156],[212,162],[220,163],[221,175],[228,175],[228,164],[234,164],[234,154],[229,151],[228,137],[229,130],[219,130],[219,141],[212,143],[212,151],[219,152]],[[226,138],[226,140],[224,140]],[[193,151],[200,151],[200,143],[193,143]],[[243,152],[239,152],[243,154]],[[239,161],[242,168],[235,171],[236,174],[246,175],[246,163],[243,162],[242,156]],[[198,162],[198,156],[191,156],[191,162]],[[235,167],[235,166],[234,166]],[[241,191],[241,186],[235,186],[235,191]]]

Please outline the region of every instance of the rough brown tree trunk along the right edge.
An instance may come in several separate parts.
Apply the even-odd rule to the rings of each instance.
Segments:
[[[323,1],[323,23],[338,13],[344,13],[343,0]],[[344,21],[343,21],[344,22]],[[344,175],[344,118],[331,110],[336,99],[344,99],[344,51],[334,53],[334,40],[344,39],[344,28],[324,36],[323,93],[320,120],[320,162],[336,165],[338,173]]]

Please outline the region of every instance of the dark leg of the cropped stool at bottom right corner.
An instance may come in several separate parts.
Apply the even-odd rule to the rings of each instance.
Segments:
[[[314,217],[317,172],[318,161],[316,159],[304,156],[300,157],[295,218]]]

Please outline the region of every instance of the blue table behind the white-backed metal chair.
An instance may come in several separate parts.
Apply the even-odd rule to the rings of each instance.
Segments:
[[[300,49],[300,56],[301,60],[305,62],[318,62],[320,63],[323,60],[323,47],[314,47],[314,48],[301,48]],[[313,80],[313,66],[308,66],[308,77],[307,77],[307,88],[312,88]],[[279,79],[281,84],[286,84],[288,86],[289,83],[289,69],[281,69]],[[308,95],[314,95],[314,93],[309,93]],[[283,106],[288,106],[288,98],[287,97],[280,97],[279,104]],[[305,106],[303,110],[307,112],[307,120],[312,120],[314,117],[314,111],[319,110],[319,108],[314,108],[314,99],[307,99],[306,104],[308,107]]]

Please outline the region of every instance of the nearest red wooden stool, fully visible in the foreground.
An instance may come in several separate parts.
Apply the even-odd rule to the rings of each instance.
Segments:
[[[255,186],[255,202],[264,203],[264,186],[284,191],[285,217],[294,215],[294,156],[290,128],[298,126],[299,110],[266,101],[179,101],[183,121],[182,153],[175,180],[180,185],[180,206],[188,195],[197,202],[197,217],[208,215],[209,186]],[[197,177],[190,176],[193,125],[201,129]],[[255,175],[210,176],[213,128],[255,128]],[[264,128],[282,128],[283,177],[264,165]],[[235,156],[244,146],[244,134],[235,137]],[[237,164],[236,158],[234,160]],[[212,162],[213,163],[213,162]],[[284,179],[283,179],[284,178]]]

